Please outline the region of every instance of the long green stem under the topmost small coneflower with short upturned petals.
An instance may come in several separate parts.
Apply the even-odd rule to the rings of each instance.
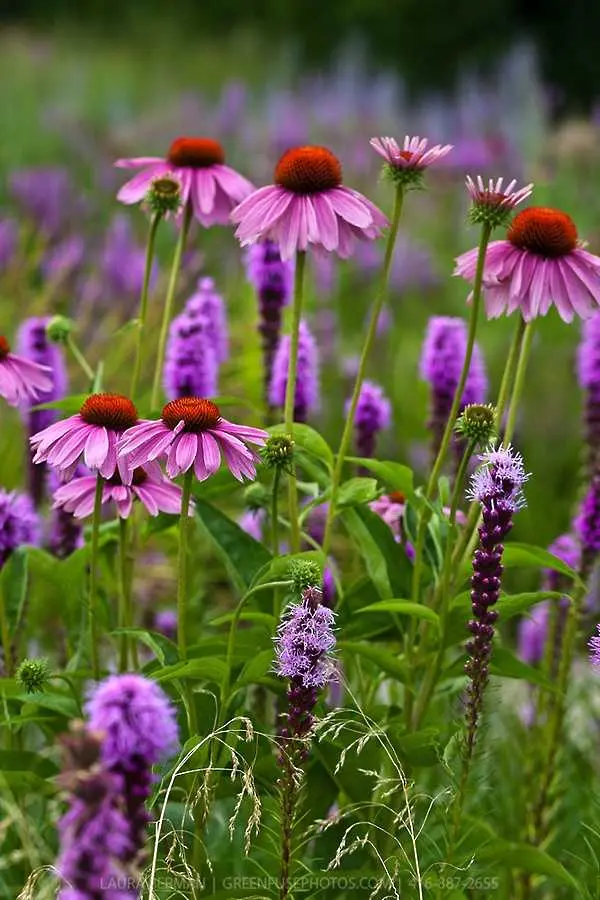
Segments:
[[[371,354],[371,350],[373,348],[373,344],[375,342],[375,338],[377,337],[377,323],[379,322],[379,316],[381,314],[381,310],[383,308],[383,304],[388,292],[388,284],[390,281],[390,272],[392,269],[392,260],[394,258],[394,248],[396,246],[396,238],[398,237],[398,226],[400,224],[400,216],[402,214],[402,207],[404,204],[404,188],[401,185],[396,185],[396,193],[394,197],[394,209],[392,212],[392,220],[390,224],[390,230],[388,233],[386,248],[385,248],[385,256],[383,260],[383,269],[381,272],[381,282],[379,285],[379,290],[375,296],[375,301],[373,303],[373,309],[371,310],[371,318],[369,321],[369,327],[367,329],[367,334],[365,336],[365,342],[363,344],[362,353],[360,357],[360,362],[358,365],[358,372],[356,373],[356,381],[354,382],[354,390],[352,392],[352,399],[350,401],[350,409],[346,415],[346,422],[344,425],[344,430],[342,432],[342,439],[340,441],[340,447],[338,450],[335,467],[333,470],[333,475],[331,478],[331,497],[329,500],[329,509],[327,511],[327,520],[325,523],[325,535],[323,537],[323,555],[325,558],[329,555],[329,550],[331,547],[331,539],[333,536],[333,523],[335,519],[336,513],[336,504],[338,492],[340,489],[340,483],[342,480],[342,471],[344,468],[344,461],[346,455],[348,453],[348,449],[350,447],[350,441],[352,440],[352,430],[354,428],[354,416],[356,415],[356,407],[358,405],[358,400],[360,397],[360,390],[365,380],[365,374],[367,370],[367,361]]]

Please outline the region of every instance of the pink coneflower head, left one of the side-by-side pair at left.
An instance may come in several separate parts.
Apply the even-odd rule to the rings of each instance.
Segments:
[[[124,459],[117,459],[117,444],[124,431],[137,422],[137,410],[122,394],[91,394],[75,416],[62,419],[35,434],[31,445],[34,463],[47,462],[72,475],[79,460],[103,478],[119,470],[128,483],[131,472]]]

